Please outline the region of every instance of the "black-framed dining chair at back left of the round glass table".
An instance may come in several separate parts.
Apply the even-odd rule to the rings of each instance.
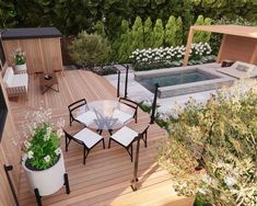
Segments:
[[[84,111],[82,110],[84,106]],[[96,118],[95,113],[92,111],[89,111],[86,105],[86,100],[82,99],[77,102],[73,102],[68,106],[69,114],[70,114],[70,126],[72,125],[72,122],[78,122],[80,124],[83,124],[85,127],[90,124],[94,123],[94,119]],[[75,111],[82,110],[81,114],[75,115]]]

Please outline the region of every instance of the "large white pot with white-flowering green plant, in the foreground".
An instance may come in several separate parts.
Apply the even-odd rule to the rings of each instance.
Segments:
[[[63,122],[50,123],[50,110],[30,113],[27,126],[30,135],[24,141],[22,167],[33,192],[39,196],[57,192],[63,184],[66,168],[60,139]]]

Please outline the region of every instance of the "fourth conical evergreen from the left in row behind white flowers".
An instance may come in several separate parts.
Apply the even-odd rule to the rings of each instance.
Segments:
[[[164,30],[163,30],[163,22],[161,19],[156,20],[156,23],[153,27],[153,35],[152,35],[152,47],[161,47],[163,46],[164,42]]]

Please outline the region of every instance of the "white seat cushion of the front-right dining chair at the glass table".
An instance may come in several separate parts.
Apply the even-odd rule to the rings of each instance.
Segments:
[[[110,138],[118,141],[122,146],[128,147],[129,144],[131,144],[138,135],[139,134],[136,130],[124,126],[121,129],[117,130],[113,136],[110,136]]]

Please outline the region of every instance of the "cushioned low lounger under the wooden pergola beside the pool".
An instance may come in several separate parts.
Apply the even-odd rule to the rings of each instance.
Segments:
[[[231,67],[222,67],[217,69],[217,71],[237,79],[257,77],[257,66],[242,61],[235,61]]]

